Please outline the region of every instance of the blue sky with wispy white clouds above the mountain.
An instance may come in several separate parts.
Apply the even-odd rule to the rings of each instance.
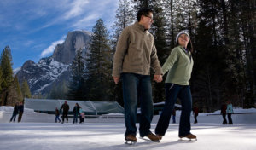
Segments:
[[[67,32],[91,32],[102,18],[110,32],[119,0],[1,0],[0,50],[9,45],[13,69],[52,55]]]

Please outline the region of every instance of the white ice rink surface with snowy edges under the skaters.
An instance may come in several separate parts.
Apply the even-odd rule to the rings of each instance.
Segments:
[[[222,116],[218,112],[200,114],[199,123],[191,124],[191,132],[197,136],[197,141],[179,141],[178,124],[171,123],[160,143],[143,141],[137,132],[137,143],[129,146],[124,144],[125,124],[122,114],[106,115],[108,118],[87,118],[84,124],[60,124],[53,123],[54,115],[25,111],[21,123],[8,123],[4,118],[10,118],[12,109],[0,107],[0,150],[254,150],[256,109],[236,108],[234,111],[237,114],[232,115],[233,125],[221,124]],[[177,122],[179,114],[177,111]],[[153,132],[158,118],[159,115],[153,118]],[[69,122],[72,121],[69,119]]]

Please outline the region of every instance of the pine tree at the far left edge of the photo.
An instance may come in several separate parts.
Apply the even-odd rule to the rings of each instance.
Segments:
[[[11,49],[9,46],[6,46],[3,49],[0,59],[0,66],[2,68],[2,77],[3,77],[3,84],[2,84],[2,105],[6,105],[8,103],[7,96],[9,87],[13,84],[13,69],[12,69],[12,56],[11,56]]]

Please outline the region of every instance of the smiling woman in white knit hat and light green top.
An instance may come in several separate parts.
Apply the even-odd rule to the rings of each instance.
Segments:
[[[171,55],[169,55],[165,64],[162,66],[164,74],[169,72],[165,84],[166,103],[155,128],[155,134],[160,140],[162,139],[162,136],[165,136],[166,134],[172,109],[174,108],[177,98],[179,98],[182,103],[178,136],[180,138],[187,137],[189,139],[196,139],[196,136],[190,133],[192,96],[189,88],[189,79],[194,61],[191,55],[193,48],[189,33],[184,31],[179,32],[176,37],[176,43],[177,47],[172,49]]]

